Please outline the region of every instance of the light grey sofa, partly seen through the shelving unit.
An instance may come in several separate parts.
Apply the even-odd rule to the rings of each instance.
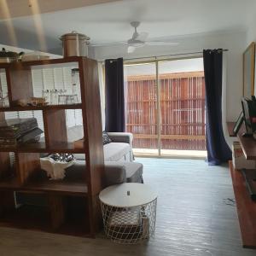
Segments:
[[[128,132],[108,132],[112,143],[103,146],[105,161],[104,185],[117,183],[143,183],[143,165],[134,162],[132,154],[132,134]],[[67,130],[67,140],[73,142],[84,137],[83,126],[73,126]],[[84,172],[84,154],[75,154],[76,162],[66,169],[68,179],[78,179]]]

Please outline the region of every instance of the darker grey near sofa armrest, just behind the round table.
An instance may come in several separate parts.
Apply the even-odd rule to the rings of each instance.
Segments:
[[[116,162],[105,162],[104,184],[111,186],[118,183],[125,183],[126,171],[125,166]]]

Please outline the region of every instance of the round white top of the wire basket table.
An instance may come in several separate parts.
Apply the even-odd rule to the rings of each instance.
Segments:
[[[108,206],[138,207],[154,201],[157,194],[147,184],[122,183],[103,189],[99,197]]]

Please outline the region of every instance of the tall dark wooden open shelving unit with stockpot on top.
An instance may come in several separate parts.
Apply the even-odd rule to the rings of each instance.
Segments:
[[[73,63],[79,67],[81,103],[15,106],[15,100],[33,96],[32,67],[67,67]],[[42,111],[44,119],[44,142],[0,148],[0,225],[94,237],[102,223],[98,194],[102,190],[104,166],[96,61],[67,57],[0,64],[0,68],[6,73],[9,96],[9,108],[0,108],[0,120],[5,119],[5,112],[32,110]],[[82,110],[84,148],[74,148],[73,143],[67,142],[66,109]],[[15,154],[15,167],[10,165],[9,152]],[[85,154],[83,177],[50,181],[38,176],[42,172],[41,153]],[[44,207],[17,207],[15,192],[44,196],[48,203]]]

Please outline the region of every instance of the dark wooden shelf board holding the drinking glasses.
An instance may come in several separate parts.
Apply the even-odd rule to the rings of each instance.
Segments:
[[[0,112],[10,112],[10,111],[32,111],[32,110],[47,110],[47,109],[80,109],[82,104],[66,104],[66,105],[47,105],[47,106],[26,106],[26,107],[9,107],[0,108]]]

